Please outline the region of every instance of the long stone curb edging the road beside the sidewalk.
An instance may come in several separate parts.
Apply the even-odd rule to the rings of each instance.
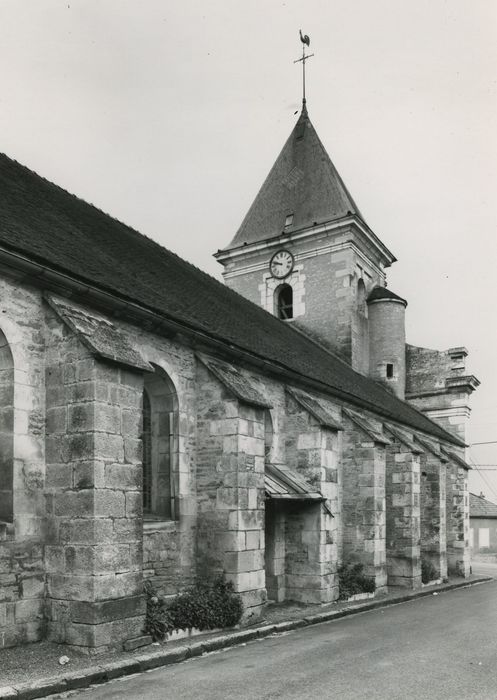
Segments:
[[[44,698],[48,695],[54,695],[55,693],[88,688],[90,685],[107,683],[108,681],[133,673],[142,673],[143,671],[149,671],[150,669],[159,668],[160,666],[180,663],[181,661],[201,656],[207,652],[226,649],[238,644],[245,644],[254,639],[263,639],[271,634],[289,632],[301,627],[309,627],[310,625],[318,625],[322,622],[338,620],[369,610],[376,610],[377,608],[386,608],[391,605],[407,603],[410,600],[425,598],[434,593],[441,594],[447,591],[453,591],[457,588],[469,588],[470,586],[487,583],[493,580],[491,576],[481,576],[472,581],[450,583],[438,590],[424,588],[414,593],[397,595],[388,600],[370,600],[358,605],[351,605],[349,608],[342,608],[342,610],[327,610],[326,612],[316,613],[309,617],[287,620],[285,622],[275,622],[274,624],[261,625],[239,632],[228,632],[227,634],[214,637],[213,639],[206,639],[204,642],[198,641],[189,645],[175,647],[170,651],[167,649],[157,649],[138,654],[132,659],[95,665],[89,669],[74,671],[59,678],[41,678],[32,683],[4,686],[0,687],[0,700],[14,700],[14,698],[16,700],[35,700],[35,698]]]

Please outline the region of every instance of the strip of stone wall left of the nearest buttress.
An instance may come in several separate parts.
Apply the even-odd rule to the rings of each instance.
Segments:
[[[36,641],[45,631],[42,330],[40,293],[1,279],[0,396],[3,403],[8,393],[13,411],[0,417],[0,490],[10,490],[12,504],[0,516],[0,647]]]

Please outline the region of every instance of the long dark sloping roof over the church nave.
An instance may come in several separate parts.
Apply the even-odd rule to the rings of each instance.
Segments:
[[[324,392],[462,444],[290,324],[1,154],[0,247],[318,382]]]

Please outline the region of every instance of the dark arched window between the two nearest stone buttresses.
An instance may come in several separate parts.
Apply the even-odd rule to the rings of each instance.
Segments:
[[[159,367],[145,376],[143,389],[143,513],[145,518],[178,517],[178,399]]]

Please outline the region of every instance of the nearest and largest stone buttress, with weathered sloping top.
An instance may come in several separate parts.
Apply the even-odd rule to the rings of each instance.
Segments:
[[[89,349],[84,315],[46,309],[47,627],[102,651],[142,634],[143,371]],[[106,323],[101,319],[102,323]],[[91,330],[92,317],[88,320]],[[83,329],[84,331],[85,329]],[[98,338],[98,328],[93,328]],[[106,333],[112,332],[106,328]],[[114,351],[122,339],[112,337]],[[121,353],[125,355],[123,351]]]

